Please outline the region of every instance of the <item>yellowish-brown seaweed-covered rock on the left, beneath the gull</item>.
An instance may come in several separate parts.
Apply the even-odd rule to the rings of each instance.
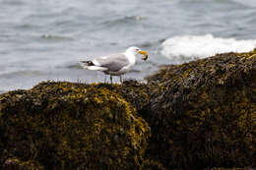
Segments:
[[[0,95],[1,168],[15,157],[45,169],[141,169],[150,128],[115,86],[47,82]]]

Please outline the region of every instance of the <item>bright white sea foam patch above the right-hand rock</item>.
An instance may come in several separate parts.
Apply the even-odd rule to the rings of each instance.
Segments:
[[[224,52],[248,52],[256,47],[256,39],[237,40],[212,34],[183,35],[166,39],[161,47],[162,55],[173,63],[182,63]]]

